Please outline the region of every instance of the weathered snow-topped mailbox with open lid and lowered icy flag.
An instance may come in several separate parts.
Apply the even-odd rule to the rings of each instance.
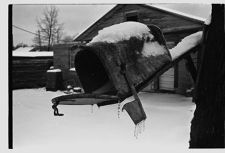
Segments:
[[[135,124],[146,119],[137,92],[146,87],[152,76],[171,62],[161,30],[154,25],[124,22],[104,28],[85,46],[78,48],[75,68],[84,94],[56,97],[57,105],[98,106],[134,101],[123,106]]]

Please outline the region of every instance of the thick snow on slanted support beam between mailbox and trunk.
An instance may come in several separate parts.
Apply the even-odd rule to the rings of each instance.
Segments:
[[[170,49],[172,60],[177,59],[190,49],[199,45],[201,43],[202,33],[202,31],[193,33],[182,39],[181,42],[179,42],[174,48]]]

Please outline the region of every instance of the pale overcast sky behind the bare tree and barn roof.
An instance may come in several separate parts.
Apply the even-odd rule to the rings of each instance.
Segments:
[[[155,4],[156,5],[156,4]],[[207,18],[211,6],[207,4],[160,4],[184,13]],[[13,5],[13,25],[31,32],[37,30],[36,18],[42,17],[43,9],[48,5]],[[59,22],[64,23],[66,35],[82,32],[93,22],[103,16],[115,5],[56,5],[59,9]],[[13,43],[32,45],[34,35],[13,28]]]

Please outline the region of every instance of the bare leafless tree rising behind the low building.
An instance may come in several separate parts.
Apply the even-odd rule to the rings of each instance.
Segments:
[[[46,7],[43,17],[37,19],[38,29],[41,32],[42,40],[47,43],[48,51],[62,37],[63,24],[58,21],[58,13],[59,10],[55,6]]]

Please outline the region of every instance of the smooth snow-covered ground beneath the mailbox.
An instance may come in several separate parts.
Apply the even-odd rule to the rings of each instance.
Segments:
[[[136,139],[135,126],[128,114],[121,112],[118,118],[117,104],[94,106],[93,112],[91,106],[59,106],[64,116],[54,116],[51,99],[61,94],[44,88],[13,91],[15,149],[51,148],[59,152],[60,149],[74,152],[77,149],[101,152],[104,148],[107,152],[188,149],[195,109],[191,98],[140,93],[147,120],[145,131]]]

